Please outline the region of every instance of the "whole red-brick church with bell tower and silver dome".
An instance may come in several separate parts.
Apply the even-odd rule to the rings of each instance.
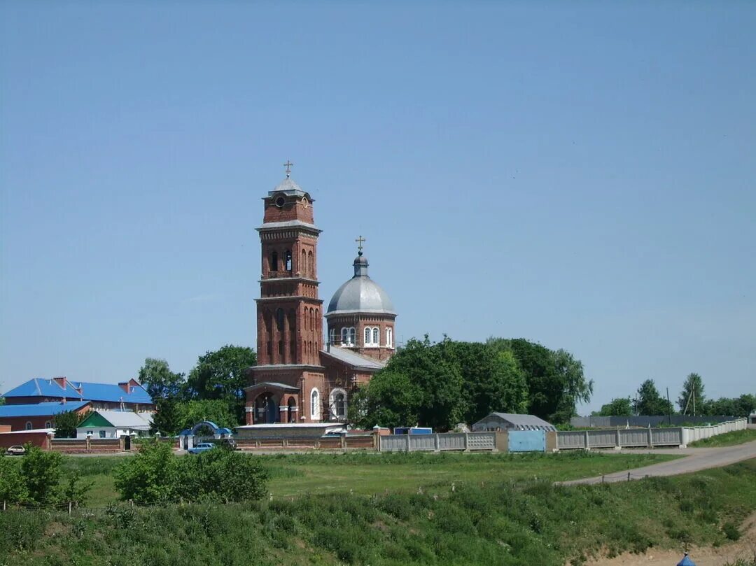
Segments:
[[[358,238],[354,276],[323,311],[318,295],[314,200],[287,176],[263,197],[257,363],[249,370],[246,424],[345,422],[351,394],[395,351],[396,312],[367,274]],[[324,336],[324,324],[327,331]]]

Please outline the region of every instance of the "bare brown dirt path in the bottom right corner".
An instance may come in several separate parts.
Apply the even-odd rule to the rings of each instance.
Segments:
[[[740,540],[718,549],[697,548],[688,549],[690,559],[696,566],[724,566],[733,563],[738,558],[753,559],[756,556],[756,512],[752,513],[742,525],[743,536]],[[683,558],[683,549],[655,550],[646,554],[625,553],[615,558],[602,558],[586,563],[586,566],[674,566]]]

